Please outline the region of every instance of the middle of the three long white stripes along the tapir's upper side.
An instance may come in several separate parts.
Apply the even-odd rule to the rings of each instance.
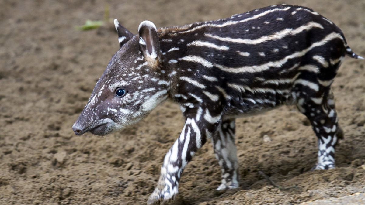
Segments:
[[[259,44],[259,43],[263,43],[269,40],[278,40],[281,38],[284,38],[287,35],[296,35],[299,34],[300,32],[306,30],[310,30],[311,28],[321,28],[323,29],[322,25],[316,22],[309,22],[308,24],[304,25],[304,26],[300,26],[298,28],[296,28],[295,30],[293,30],[292,28],[285,28],[284,30],[278,31],[274,34],[271,35],[267,35],[267,36],[262,36],[261,38],[257,38],[257,39],[242,39],[242,38],[230,38],[230,37],[220,37],[217,35],[212,35],[212,34],[205,34],[205,36],[210,37],[210,38],[214,38],[214,39],[218,39],[218,40],[222,40],[222,41],[227,41],[227,42],[233,42],[233,43],[245,43],[245,44]]]

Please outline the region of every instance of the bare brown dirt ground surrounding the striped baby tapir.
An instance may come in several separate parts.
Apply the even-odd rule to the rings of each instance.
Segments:
[[[0,204],[145,204],[153,191],[164,155],[183,127],[176,104],[165,102],[130,129],[103,138],[76,136],[71,129],[119,48],[113,26],[74,26],[103,19],[107,3],[110,17],[134,33],[146,19],[163,27],[300,4],[331,19],[365,56],[364,0],[1,0]],[[174,204],[297,204],[365,192],[364,65],[346,58],[333,85],[345,131],[336,169],[310,171],[314,132],[296,108],[281,107],[237,120],[239,189],[215,190],[220,168],[208,142],[185,169]],[[279,190],[259,170],[299,189]]]

